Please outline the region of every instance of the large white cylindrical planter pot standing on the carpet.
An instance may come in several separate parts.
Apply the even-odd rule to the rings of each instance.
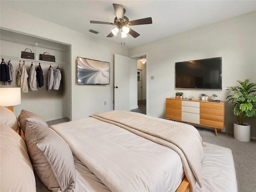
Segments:
[[[247,123],[244,124],[234,123],[234,138],[238,141],[249,142],[251,140],[251,126]]]

